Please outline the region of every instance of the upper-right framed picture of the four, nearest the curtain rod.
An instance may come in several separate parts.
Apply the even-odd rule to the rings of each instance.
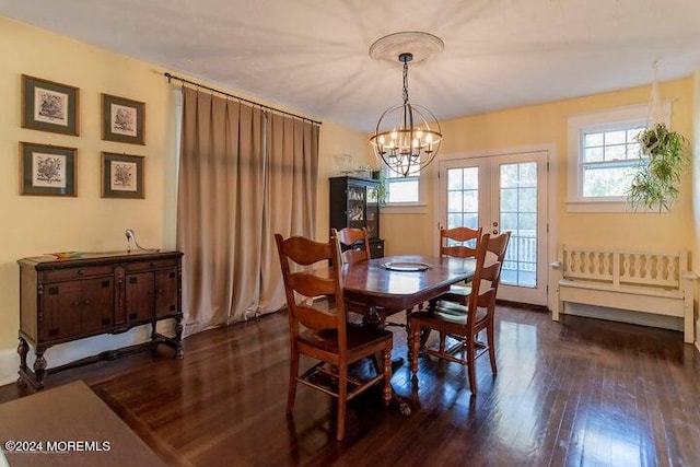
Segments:
[[[143,144],[145,104],[115,95],[102,95],[102,139]]]

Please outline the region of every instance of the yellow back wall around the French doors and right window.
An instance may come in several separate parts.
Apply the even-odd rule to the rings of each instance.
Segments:
[[[662,100],[673,101],[672,126],[692,140],[692,79],[662,83]],[[558,170],[558,186],[549,188],[555,196],[558,233],[555,242],[569,242],[591,246],[627,246],[666,248],[682,247],[695,258],[695,229],[691,207],[690,171],[684,183],[681,198],[670,213],[570,213],[567,199],[567,125],[568,117],[614,107],[649,103],[650,87],[642,86],[594,96],[518,107],[503,112],[457,118],[442,122],[443,145],[438,160],[459,153],[489,153],[504,149],[551,145],[557,159],[551,161]],[[436,167],[433,162],[427,171],[429,200],[434,199]],[[436,212],[431,202],[424,213],[384,214],[382,235],[389,254],[410,252],[432,253],[436,232]],[[416,226],[428,226],[419,230]],[[406,232],[410,232],[407,235]]]

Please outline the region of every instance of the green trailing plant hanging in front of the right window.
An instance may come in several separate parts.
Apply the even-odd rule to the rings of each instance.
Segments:
[[[627,192],[634,210],[658,208],[658,212],[670,207],[680,194],[682,173],[688,166],[688,140],[664,124],[641,131],[637,136],[640,157],[648,157],[632,179]]]

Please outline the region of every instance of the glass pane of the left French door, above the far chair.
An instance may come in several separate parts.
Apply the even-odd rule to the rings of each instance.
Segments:
[[[479,225],[479,168],[447,170],[447,229]]]

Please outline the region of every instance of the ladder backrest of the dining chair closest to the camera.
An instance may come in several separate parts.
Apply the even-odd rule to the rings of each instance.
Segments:
[[[314,330],[337,329],[338,345],[346,347],[346,304],[342,293],[341,260],[335,237],[327,243],[302,236],[287,240],[275,234],[289,312],[290,335],[299,336],[300,323]],[[332,265],[328,267],[327,261]],[[325,261],[318,265],[319,261]],[[316,269],[314,269],[316,268]],[[335,311],[314,306],[313,297],[335,297]]]

